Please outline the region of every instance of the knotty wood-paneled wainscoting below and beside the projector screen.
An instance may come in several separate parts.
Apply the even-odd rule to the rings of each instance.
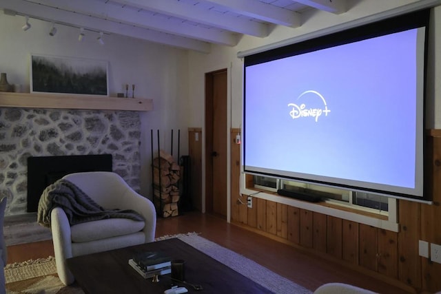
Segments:
[[[338,262],[411,293],[441,291],[441,264],[420,257],[418,241],[441,244],[441,130],[427,135],[427,174],[433,204],[398,200],[398,232],[240,195],[240,145],[232,129],[232,223]],[[282,197],[282,196],[280,196]],[[430,251],[429,251],[430,252]]]

